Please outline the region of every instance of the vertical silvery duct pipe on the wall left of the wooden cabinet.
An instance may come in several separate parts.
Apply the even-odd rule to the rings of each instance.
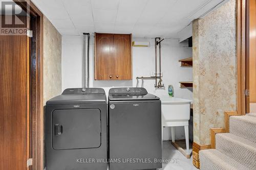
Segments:
[[[83,33],[82,87],[89,87],[89,42],[90,34]]]

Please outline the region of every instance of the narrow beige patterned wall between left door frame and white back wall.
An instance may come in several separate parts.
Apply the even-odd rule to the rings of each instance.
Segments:
[[[61,35],[44,16],[44,105],[61,93]]]

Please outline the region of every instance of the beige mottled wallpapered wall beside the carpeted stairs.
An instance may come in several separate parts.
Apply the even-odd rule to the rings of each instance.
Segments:
[[[194,142],[210,144],[210,128],[237,110],[235,0],[193,22],[193,81]]]

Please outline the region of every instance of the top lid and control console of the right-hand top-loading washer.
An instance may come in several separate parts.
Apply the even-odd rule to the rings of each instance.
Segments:
[[[147,93],[145,88],[121,87],[111,88],[109,91],[110,101],[136,101],[136,100],[160,100],[158,96]]]

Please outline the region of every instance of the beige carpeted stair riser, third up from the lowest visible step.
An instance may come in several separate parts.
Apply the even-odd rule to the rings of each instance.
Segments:
[[[229,132],[256,143],[256,121],[248,121],[238,117],[240,116],[230,116]],[[251,116],[250,119],[255,120],[256,117]]]

